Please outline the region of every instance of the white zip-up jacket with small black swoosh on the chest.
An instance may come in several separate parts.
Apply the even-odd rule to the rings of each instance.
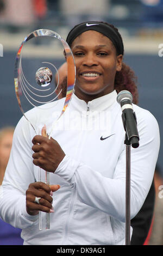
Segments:
[[[14,139],[0,198],[0,216],[22,229],[24,245],[124,245],[126,216],[126,145],[122,110],[116,91],[88,102],[73,95],[52,137],[66,156],[50,183],[61,187],[53,194],[51,228],[39,230],[39,217],[26,211],[26,190],[38,181],[32,159],[34,130],[21,118]],[[64,99],[27,113],[35,127],[48,133]],[[50,106],[53,106],[50,108]],[[131,203],[133,218],[151,187],[160,137],[153,115],[133,104],[139,148],[131,148]]]

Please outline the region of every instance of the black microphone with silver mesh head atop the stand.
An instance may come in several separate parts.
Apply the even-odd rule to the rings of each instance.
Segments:
[[[139,133],[137,131],[136,115],[133,112],[133,95],[128,90],[122,90],[117,95],[117,102],[121,105],[122,121],[128,141],[133,148],[137,148],[139,147]]]

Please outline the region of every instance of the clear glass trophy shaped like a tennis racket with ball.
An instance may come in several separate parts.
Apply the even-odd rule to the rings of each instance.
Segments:
[[[50,61],[49,61],[50,59]],[[57,62],[58,60],[58,62]],[[59,66],[67,62],[67,92],[60,109],[60,113],[55,120],[52,120],[50,130],[47,132],[46,123],[35,127],[32,120],[29,120],[28,110],[36,107],[42,113],[45,109],[54,108],[53,102],[58,99],[61,90],[59,85]],[[57,74],[58,84],[54,86],[54,77]],[[52,131],[65,113],[72,94],[76,80],[76,67],[71,48],[61,36],[49,29],[38,29],[22,41],[15,60],[14,84],[18,106],[22,114],[32,126],[35,135],[42,135],[51,139]],[[54,102],[55,103],[55,102]],[[42,105],[45,105],[42,107]],[[54,108],[55,109],[55,108]],[[52,115],[53,116],[53,115]],[[38,167],[39,181],[50,184],[49,172]],[[39,203],[39,198],[36,198]],[[50,214],[39,211],[39,229],[50,228]]]

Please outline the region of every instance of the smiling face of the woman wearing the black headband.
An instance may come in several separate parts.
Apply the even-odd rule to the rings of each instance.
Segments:
[[[77,70],[76,95],[86,100],[111,93],[122,64],[122,55],[117,56],[111,40],[99,32],[86,31],[74,39],[71,49]]]

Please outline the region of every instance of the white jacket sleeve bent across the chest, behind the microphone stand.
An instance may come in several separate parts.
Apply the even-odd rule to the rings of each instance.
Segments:
[[[139,121],[140,145],[131,148],[130,216],[141,209],[151,187],[158,159],[160,136],[158,123],[151,113]],[[87,205],[125,222],[126,217],[126,148],[118,157],[113,179],[92,170],[86,164],[66,155],[59,164],[58,174],[75,184],[78,198]]]

